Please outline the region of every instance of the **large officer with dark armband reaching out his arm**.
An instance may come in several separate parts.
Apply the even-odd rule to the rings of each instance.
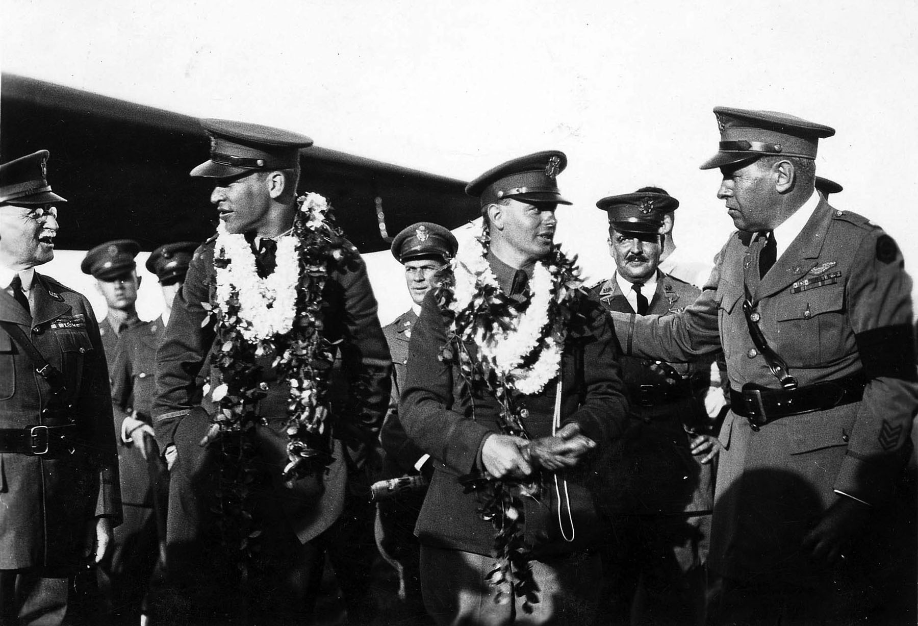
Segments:
[[[818,143],[834,129],[771,111],[714,114],[720,150],[701,168],[720,169],[717,196],[738,230],[685,311],[615,318],[636,356],[726,356],[733,410],[720,434],[712,619],[914,621],[913,550],[906,576],[865,582],[890,553],[876,546],[893,524],[890,501],[908,497],[896,477],[918,386],[901,252],[815,193]],[[901,537],[914,536],[911,517]],[[911,618],[896,614],[905,606]]]

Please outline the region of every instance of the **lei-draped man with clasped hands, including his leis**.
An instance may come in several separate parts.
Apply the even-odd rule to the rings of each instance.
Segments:
[[[399,408],[433,458],[416,534],[440,624],[592,618],[589,461],[627,403],[608,316],[554,245],[565,165],[538,152],[465,188],[481,201],[481,245],[453,260],[411,334]]]

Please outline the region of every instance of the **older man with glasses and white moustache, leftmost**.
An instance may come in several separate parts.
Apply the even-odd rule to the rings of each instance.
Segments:
[[[121,519],[106,360],[84,296],[35,271],[57,207],[37,151],[0,165],[0,623],[79,620],[68,587]]]

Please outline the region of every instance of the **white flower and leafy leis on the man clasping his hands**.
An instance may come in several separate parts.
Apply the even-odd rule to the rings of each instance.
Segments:
[[[470,388],[487,390],[500,406],[500,430],[529,439],[518,395],[537,394],[558,375],[564,351],[571,305],[583,281],[577,259],[568,259],[555,245],[536,263],[528,303],[505,295],[487,263],[487,231],[477,238],[480,246],[453,259],[452,274],[443,276],[436,295],[448,320],[447,342],[440,358],[457,365]],[[466,346],[476,345],[473,357]],[[498,562],[488,574],[498,587],[496,600],[509,602],[509,585],[524,599],[523,608],[538,601],[529,556],[532,546],[524,538],[523,498],[537,495],[538,479],[529,484],[493,477],[464,481],[466,492],[478,491],[482,519],[495,529]]]

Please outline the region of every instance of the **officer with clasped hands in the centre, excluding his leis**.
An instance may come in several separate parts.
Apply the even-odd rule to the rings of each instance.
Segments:
[[[558,258],[554,210],[570,203],[555,177],[565,165],[563,152],[537,152],[503,163],[465,188],[480,200],[487,268],[497,281],[498,297],[511,307],[536,301],[530,286],[532,276],[538,275],[536,263],[555,263]],[[472,259],[477,258],[473,252]],[[456,263],[457,275],[467,272],[464,265]],[[542,374],[548,380],[539,391],[505,391],[513,393],[531,437],[521,439],[501,428],[494,392],[484,385],[465,385],[459,365],[442,354],[449,344],[454,353],[470,356],[470,366],[480,363],[474,343],[454,344],[447,336],[451,313],[441,303],[452,300],[447,290],[453,289],[453,297],[459,293],[458,281],[457,277],[455,288],[444,281],[424,299],[412,329],[399,404],[399,418],[411,441],[433,462],[416,530],[425,606],[439,624],[507,624],[514,616],[532,624],[586,622],[593,617],[599,576],[599,558],[588,550],[599,526],[589,488],[577,468],[585,468],[590,454],[608,445],[626,419],[609,319],[599,302],[583,291],[572,293],[569,304],[565,300],[570,323],[557,369]],[[481,341],[491,341],[490,332],[482,330]],[[533,349],[534,354],[541,354],[539,350]],[[559,453],[545,463],[569,471],[552,474],[543,461],[537,464],[533,451],[545,442],[556,445]],[[525,510],[514,518],[520,520],[532,551],[522,576],[532,576],[535,587],[530,588],[537,589],[538,602],[528,604],[519,588],[509,588],[506,582],[489,585],[488,573],[495,568],[495,526],[479,514],[484,500],[465,486],[482,477],[499,479],[503,485],[533,480],[543,476],[539,467],[546,472],[543,484],[558,481],[564,504],[559,500],[557,508],[540,506],[537,498],[526,498]],[[550,499],[544,495],[543,501]],[[556,520],[562,508],[566,531]],[[569,534],[571,527],[574,536]],[[507,594],[506,602],[498,602],[500,592]]]

